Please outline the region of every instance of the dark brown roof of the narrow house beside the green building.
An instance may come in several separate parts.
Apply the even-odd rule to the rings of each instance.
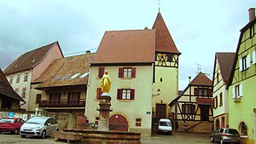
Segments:
[[[218,60],[222,78],[224,78],[224,82],[229,81],[235,55],[236,53],[216,53],[216,58]]]

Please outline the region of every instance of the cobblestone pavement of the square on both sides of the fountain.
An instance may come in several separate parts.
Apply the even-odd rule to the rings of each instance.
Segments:
[[[172,135],[153,134],[151,137],[142,137],[142,144],[211,144],[209,135],[192,133],[173,133]],[[40,139],[37,137],[21,138],[20,135],[10,135],[3,133],[0,135],[0,144],[67,144],[65,141],[54,141],[47,137]]]

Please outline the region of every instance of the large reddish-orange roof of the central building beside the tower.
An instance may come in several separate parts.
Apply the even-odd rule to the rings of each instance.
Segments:
[[[105,32],[91,64],[154,62],[154,30]]]

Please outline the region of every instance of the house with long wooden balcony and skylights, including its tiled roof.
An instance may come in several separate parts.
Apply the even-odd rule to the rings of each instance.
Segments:
[[[32,81],[29,109],[84,115],[89,63],[94,55],[53,60],[43,74]]]

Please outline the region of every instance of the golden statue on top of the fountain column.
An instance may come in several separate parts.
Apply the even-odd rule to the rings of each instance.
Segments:
[[[102,87],[102,95],[108,95],[109,89],[111,87],[111,80],[108,76],[108,70],[104,72],[104,75],[101,80],[101,87]]]

